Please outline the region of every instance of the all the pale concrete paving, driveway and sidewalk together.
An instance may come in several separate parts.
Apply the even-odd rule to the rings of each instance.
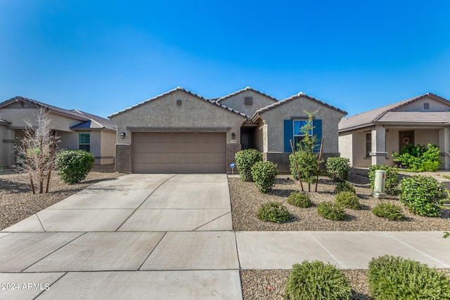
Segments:
[[[0,282],[18,289],[0,299],[242,299],[240,269],[305,259],[352,269],[393,254],[450,268],[442,235],[235,233],[225,174],[130,174],[1,231]]]

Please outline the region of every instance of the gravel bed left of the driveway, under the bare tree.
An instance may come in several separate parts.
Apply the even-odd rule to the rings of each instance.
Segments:
[[[49,193],[32,195],[30,177],[27,173],[18,169],[4,169],[0,172],[0,230],[36,214],[89,185],[122,175],[113,171],[111,166],[94,166],[84,181],[68,185],[60,180],[56,171],[52,171]]]

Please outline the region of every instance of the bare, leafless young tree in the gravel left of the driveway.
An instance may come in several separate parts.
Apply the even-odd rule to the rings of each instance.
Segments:
[[[47,180],[46,193],[49,192],[51,170],[55,165],[55,148],[58,137],[51,134],[51,119],[48,113],[41,108],[36,118],[37,126],[30,122],[24,130],[25,136],[18,145],[17,160],[30,174],[32,193],[34,194],[33,181],[39,182],[39,194],[44,193],[44,180]]]

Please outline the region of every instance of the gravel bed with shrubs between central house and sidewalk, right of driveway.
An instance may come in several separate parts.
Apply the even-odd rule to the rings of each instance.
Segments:
[[[360,210],[345,209],[345,221],[331,221],[317,214],[316,205],[324,201],[334,201],[336,183],[328,177],[320,177],[318,192],[307,192],[311,197],[312,207],[307,209],[294,207],[285,202],[293,191],[299,191],[299,181],[294,181],[290,175],[280,175],[271,193],[259,193],[254,183],[240,181],[239,178],[229,178],[231,207],[233,214],[233,230],[236,231],[432,231],[450,230],[450,209],[444,209],[440,218],[429,218],[409,213],[403,208],[406,220],[388,221],[375,216],[371,209],[380,201],[399,204],[397,196],[389,196],[383,200],[372,197],[368,177],[352,173],[349,181],[354,183],[356,194],[361,202]],[[303,183],[304,190],[308,190]],[[315,185],[311,184],[311,190]],[[262,203],[267,201],[281,202],[288,207],[291,214],[286,223],[271,223],[257,219],[257,211]]]

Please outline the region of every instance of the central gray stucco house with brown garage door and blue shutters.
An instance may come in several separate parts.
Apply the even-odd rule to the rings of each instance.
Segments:
[[[116,169],[133,173],[231,171],[234,155],[256,148],[289,171],[290,139],[314,115],[323,156],[338,156],[338,123],[347,112],[298,93],[277,100],[247,87],[207,99],[181,87],[110,115],[117,124]]]

